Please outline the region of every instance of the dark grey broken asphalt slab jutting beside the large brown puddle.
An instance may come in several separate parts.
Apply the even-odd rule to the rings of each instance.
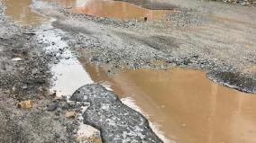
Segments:
[[[103,142],[162,142],[151,130],[141,113],[123,104],[102,85],[85,85],[71,97],[84,97],[90,103],[84,112],[84,122],[101,131]]]

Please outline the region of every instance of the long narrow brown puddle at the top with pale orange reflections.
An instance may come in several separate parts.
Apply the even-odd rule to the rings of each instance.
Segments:
[[[72,10],[76,13],[85,13],[95,15],[97,17],[110,17],[115,19],[127,20],[137,19],[159,20],[164,18],[166,14],[173,13],[167,10],[149,10],[133,4],[125,2],[117,2],[111,0],[46,0],[65,6],[72,6]]]

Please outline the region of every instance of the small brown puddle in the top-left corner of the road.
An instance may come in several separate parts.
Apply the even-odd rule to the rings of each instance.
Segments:
[[[5,14],[10,16],[14,22],[22,26],[38,26],[48,22],[41,14],[33,13],[31,9],[32,0],[4,0]]]

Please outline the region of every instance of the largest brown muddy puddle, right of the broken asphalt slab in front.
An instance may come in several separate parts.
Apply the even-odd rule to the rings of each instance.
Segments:
[[[256,142],[256,94],[217,85],[206,73],[193,69],[141,69],[109,77],[100,67],[84,67],[95,82],[109,85],[120,98],[133,99],[166,139],[178,143]]]

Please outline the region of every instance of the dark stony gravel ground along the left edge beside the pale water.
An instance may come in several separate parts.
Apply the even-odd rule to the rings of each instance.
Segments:
[[[76,142],[78,121],[65,113],[80,107],[49,93],[57,53],[46,53],[35,31],[10,22],[4,9],[0,2],[0,142]],[[31,109],[17,108],[27,100]]]

